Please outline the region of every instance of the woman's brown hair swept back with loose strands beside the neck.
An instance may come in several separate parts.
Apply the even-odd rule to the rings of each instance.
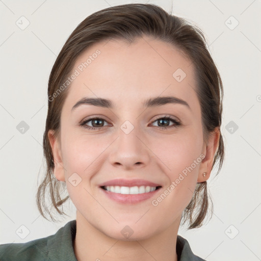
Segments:
[[[197,77],[197,96],[202,112],[204,140],[220,129],[222,119],[223,86],[217,67],[207,50],[203,33],[186,19],[167,13],[156,5],[127,4],[100,10],[88,16],[71,33],[58,55],[48,82],[48,113],[43,149],[47,170],[37,192],[37,206],[45,218],[46,211],[51,220],[56,221],[48,210],[45,193],[50,197],[50,204],[60,215],[66,215],[62,206],[69,196],[61,198],[61,190],[66,190],[65,182],[53,175],[54,156],[48,139],[48,131],[54,130],[55,137],[60,136],[60,117],[68,88],[55,97],[59,87],[66,81],[76,58],[92,44],[103,40],[121,39],[128,43],[137,37],[150,36],[173,44],[195,65]],[[51,98],[49,98],[51,97]],[[219,163],[219,173],[224,159],[224,143],[220,134],[218,149],[212,169]],[[182,213],[182,224],[189,222],[188,229],[200,227],[208,212],[208,194],[206,181],[198,183],[191,202]],[[211,201],[211,207],[213,204]],[[213,211],[211,211],[212,214]]]

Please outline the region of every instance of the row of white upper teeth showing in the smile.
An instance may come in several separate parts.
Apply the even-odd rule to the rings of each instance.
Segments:
[[[141,194],[156,190],[156,187],[141,186],[141,187],[120,187],[120,186],[105,186],[105,189],[118,194]]]

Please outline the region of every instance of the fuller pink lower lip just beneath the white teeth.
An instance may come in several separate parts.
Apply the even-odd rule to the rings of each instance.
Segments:
[[[103,193],[105,193],[105,195],[107,197],[109,197],[110,199],[113,199],[119,203],[136,204],[136,203],[140,203],[146,199],[153,197],[156,193],[158,193],[158,191],[161,188],[151,191],[151,192],[141,193],[141,194],[120,194],[120,193],[110,192],[110,191],[107,191],[102,188],[100,188],[100,189],[103,191]]]

